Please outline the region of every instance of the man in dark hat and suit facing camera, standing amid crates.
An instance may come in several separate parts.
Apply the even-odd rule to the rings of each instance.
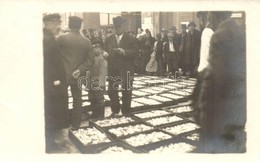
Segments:
[[[138,55],[138,43],[135,37],[124,32],[121,17],[113,18],[115,34],[106,39],[105,51],[108,56],[108,95],[111,101],[112,114],[115,116],[122,111],[123,115],[131,112],[132,85],[135,58]],[[122,106],[119,103],[118,86],[122,83]]]

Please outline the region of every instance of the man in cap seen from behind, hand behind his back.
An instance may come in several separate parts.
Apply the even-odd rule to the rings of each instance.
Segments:
[[[80,127],[82,112],[82,93],[78,86],[78,78],[86,74],[86,71],[91,68],[94,61],[92,44],[79,31],[82,21],[77,16],[70,16],[70,33],[57,38],[65,66],[66,80],[71,88],[73,97],[71,124],[76,129]]]

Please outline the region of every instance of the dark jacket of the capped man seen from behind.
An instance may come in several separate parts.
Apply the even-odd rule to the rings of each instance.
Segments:
[[[57,43],[61,50],[67,82],[75,84],[77,79],[73,78],[72,73],[79,69],[81,75],[85,75],[94,62],[92,44],[88,38],[75,32],[59,36]]]

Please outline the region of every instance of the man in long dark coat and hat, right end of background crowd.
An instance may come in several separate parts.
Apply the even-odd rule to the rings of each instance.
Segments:
[[[187,34],[187,41],[185,43],[185,54],[184,54],[184,74],[190,72],[191,77],[195,77],[197,68],[200,60],[200,37],[201,33],[195,29],[196,24],[190,22],[189,32]]]

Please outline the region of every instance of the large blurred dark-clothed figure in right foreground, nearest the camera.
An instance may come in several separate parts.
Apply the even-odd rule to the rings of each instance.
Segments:
[[[245,152],[245,51],[245,29],[231,19],[221,23],[211,37],[200,91],[201,152]]]

